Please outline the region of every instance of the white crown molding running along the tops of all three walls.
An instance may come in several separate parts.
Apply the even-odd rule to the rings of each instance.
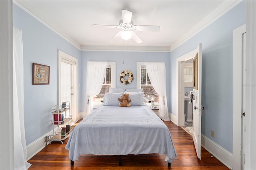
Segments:
[[[88,46],[88,45],[80,45],[76,40],[68,36],[61,28],[58,27],[57,24],[55,24],[50,18],[46,17],[42,12],[40,12],[37,8],[35,8],[30,2],[27,0],[23,0],[22,3],[26,3],[26,5],[30,6],[32,9],[29,11],[28,9],[24,8],[18,1],[13,0],[13,3],[22,8],[25,12],[30,14],[32,17],[34,17],[36,20],[44,24],[46,27],[48,27],[50,30],[64,38],[66,41],[74,45],[74,47],[78,48],[81,51],[150,51],[150,52],[170,52],[192,38],[194,35],[196,35],[198,32],[202,31],[204,28],[212,24],[214,21],[216,21],[218,18],[220,18],[222,15],[224,15],[226,12],[234,8],[237,4],[242,2],[243,0],[226,0],[222,5],[220,5],[216,10],[214,10],[212,13],[210,13],[204,20],[199,22],[196,26],[194,26],[192,29],[190,29],[184,36],[182,36],[180,39],[178,39],[175,43],[173,43],[170,47],[142,47],[142,46],[129,46],[128,49],[124,49],[123,46]],[[44,22],[46,21],[46,22]]]

